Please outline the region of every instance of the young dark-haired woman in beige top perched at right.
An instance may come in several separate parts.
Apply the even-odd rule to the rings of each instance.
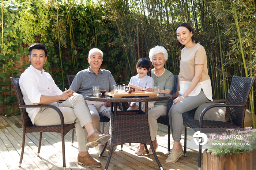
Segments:
[[[183,128],[182,113],[190,111],[208,100],[212,100],[211,80],[208,75],[206,51],[199,43],[193,42],[192,27],[182,23],[176,28],[178,41],[185,45],[181,50],[180,73],[177,97],[169,111],[170,128],[174,140],[172,151],[165,163],[174,163],[183,154],[180,143]]]

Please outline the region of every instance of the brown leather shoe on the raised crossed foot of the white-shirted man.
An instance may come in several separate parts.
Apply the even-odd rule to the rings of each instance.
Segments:
[[[106,143],[108,142],[110,137],[111,136],[109,134],[101,134],[98,131],[94,131],[93,134],[88,136],[86,147],[93,148],[93,147],[96,147],[97,144]]]

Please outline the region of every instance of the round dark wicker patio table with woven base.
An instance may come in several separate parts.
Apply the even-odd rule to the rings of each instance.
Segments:
[[[111,103],[111,113],[110,113],[110,151],[108,156],[108,161],[106,163],[105,170],[108,169],[113,147],[124,144],[124,143],[144,143],[146,152],[148,154],[148,150],[146,144],[151,146],[153,155],[155,160],[158,163],[158,166],[162,170],[162,165],[157,158],[157,154],[155,153],[149,128],[148,128],[148,116],[147,116],[147,106],[149,101],[163,101],[172,99],[172,95],[170,94],[161,94],[156,97],[125,97],[125,98],[112,98],[105,95],[93,96],[93,94],[89,94],[84,96],[85,100],[90,101],[102,101],[102,102],[110,102]],[[139,102],[139,110],[136,111],[117,111],[117,103],[123,102]],[[145,102],[145,112],[141,109],[141,102]],[[113,110],[114,109],[114,110]],[[99,158],[101,158],[107,143],[105,144]]]

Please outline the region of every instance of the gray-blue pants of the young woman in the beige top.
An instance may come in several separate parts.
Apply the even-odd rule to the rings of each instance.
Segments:
[[[179,95],[181,96],[181,95]],[[173,104],[169,111],[169,122],[174,141],[179,142],[183,128],[182,113],[190,111],[206,103],[209,99],[205,96],[203,90],[197,96],[187,96],[177,104]]]

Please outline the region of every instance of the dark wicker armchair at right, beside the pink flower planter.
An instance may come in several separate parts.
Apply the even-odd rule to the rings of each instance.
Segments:
[[[188,112],[186,113],[183,118],[185,122],[184,156],[186,156],[187,152],[187,128],[192,128],[195,132],[200,131],[202,133],[223,132],[223,129],[226,130],[226,128],[244,128],[245,109],[254,82],[255,77],[233,76],[227,100],[213,100],[215,102],[226,102],[226,105],[215,104],[208,106],[203,109],[199,120],[190,119]],[[226,107],[225,121],[203,120],[206,111],[213,107]],[[201,156],[202,145],[199,145],[199,170],[201,169]]]

